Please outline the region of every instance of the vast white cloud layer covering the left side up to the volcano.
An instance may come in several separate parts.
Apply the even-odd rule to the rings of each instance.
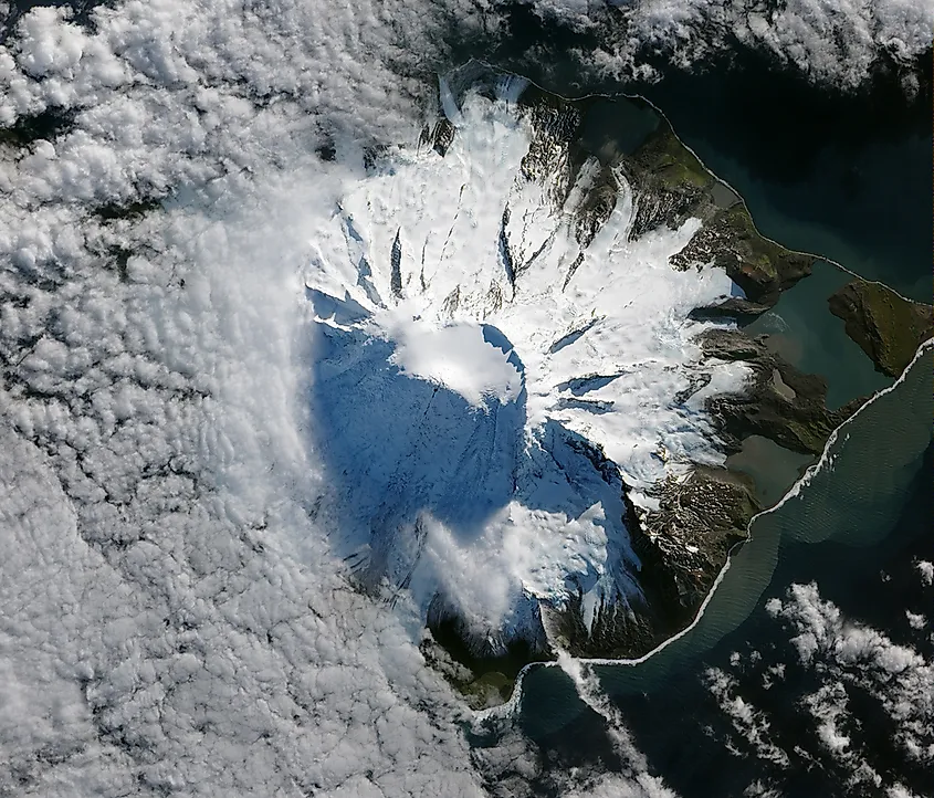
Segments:
[[[298,272],[483,8],[40,7],[0,45],[0,125],[62,123],[0,144],[0,792],[482,794],[418,617],[349,589],[315,521]],[[910,55],[926,8],[862,45]],[[634,30],[694,46],[684,13]]]

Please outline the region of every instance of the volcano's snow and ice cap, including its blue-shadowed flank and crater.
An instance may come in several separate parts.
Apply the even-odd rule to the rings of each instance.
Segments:
[[[541,639],[542,601],[577,597],[589,629],[642,600],[623,493],[652,507],[722,462],[704,399],[745,376],[702,364],[710,323],[689,318],[736,286],[669,264],[701,222],[633,235],[622,171],[524,113],[522,88],[442,85],[445,147],[382,154],[306,279],[335,547],[494,651]]]

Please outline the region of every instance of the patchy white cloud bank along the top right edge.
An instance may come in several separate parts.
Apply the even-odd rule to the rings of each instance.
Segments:
[[[644,73],[648,53],[690,67],[738,43],[847,90],[880,57],[910,67],[931,48],[934,28],[925,0],[534,0],[534,8],[580,31],[611,31],[596,55],[609,71]]]

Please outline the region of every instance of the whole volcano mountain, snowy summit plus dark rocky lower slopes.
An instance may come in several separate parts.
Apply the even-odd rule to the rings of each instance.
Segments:
[[[737,326],[811,259],[642,101],[474,74],[440,108],[311,244],[319,512],[361,587],[474,664],[644,653],[758,510],[737,441],[819,451],[848,412]],[[799,423],[762,421],[775,385]]]

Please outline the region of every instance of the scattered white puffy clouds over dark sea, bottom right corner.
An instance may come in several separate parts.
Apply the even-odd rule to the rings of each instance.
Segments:
[[[766,609],[789,634],[793,658],[780,663],[781,694],[763,691],[778,665],[753,657],[707,673],[709,690],[735,733],[730,744],[736,753],[756,756],[777,784],[789,764],[796,773],[818,766],[853,792],[912,795],[892,777],[913,785],[910,779],[930,773],[934,757],[930,639],[909,624],[912,644],[895,643],[848,618],[815,584],[793,585]],[[774,741],[768,733],[776,734]],[[774,746],[784,756],[776,758]],[[774,788],[756,783],[748,794]]]

